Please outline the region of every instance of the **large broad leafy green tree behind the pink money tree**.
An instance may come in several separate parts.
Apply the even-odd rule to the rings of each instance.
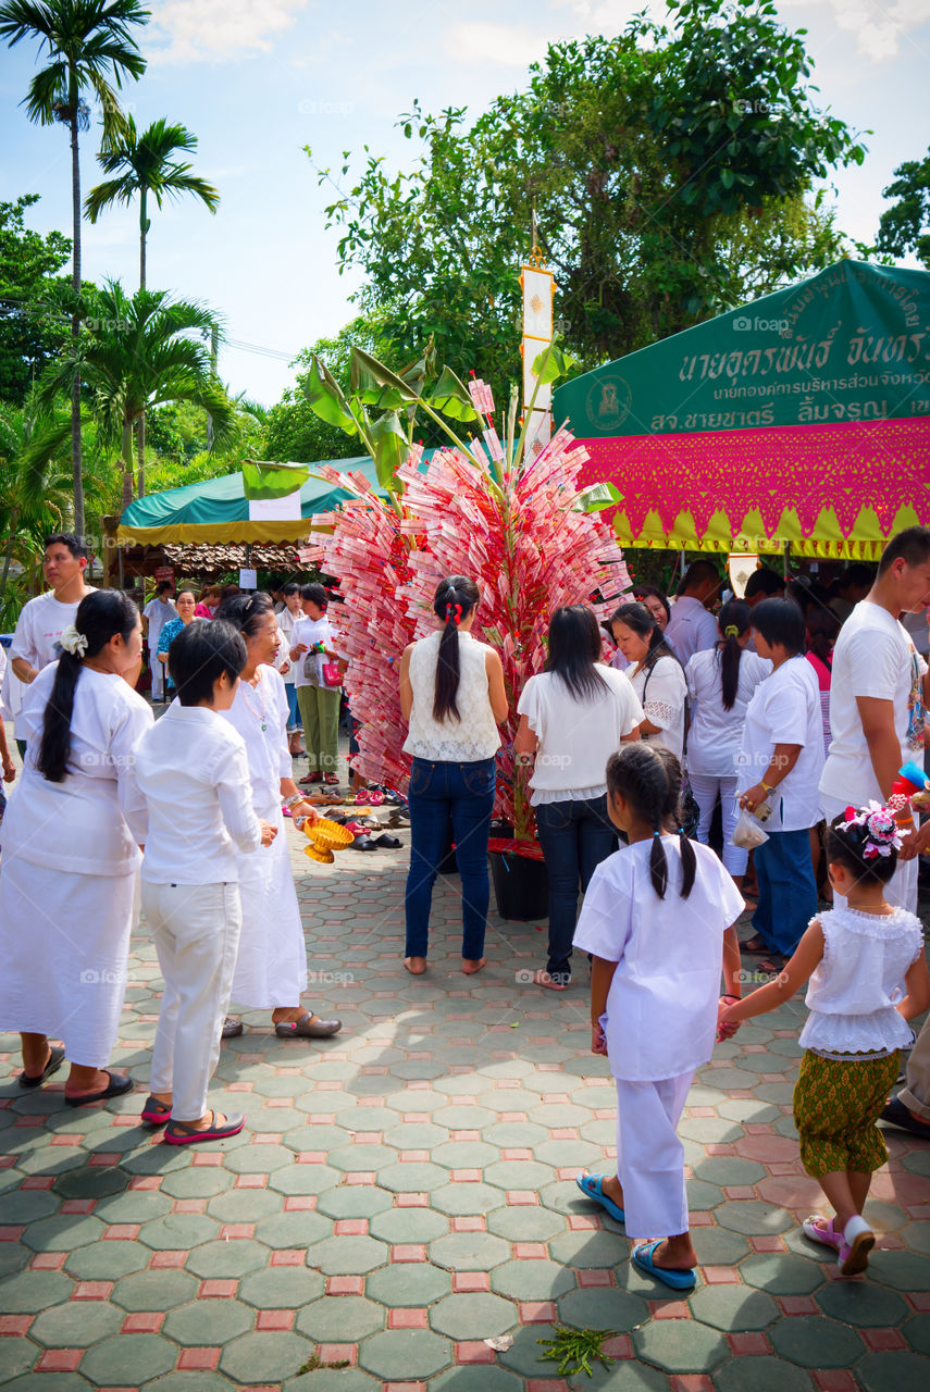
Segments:
[[[550,46],[529,85],[471,125],[465,109],[404,134],[419,163],[345,157],[327,207],[341,264],[393,356],[430,334],[441,361],[501,390],[519,342],[515,266],[537,228],[558,329],[585,366],[689,327],[842,248],[816,180],[863,150],[813,106],[803,31],[769,0],[677,0],[608,40]],[[309,152],[308,152],[309,153]],[[320,182],[333,182],[329,170]],[[533,219],[536,214],[536,219]],[[778,235],[769,235],[777,228]]]

